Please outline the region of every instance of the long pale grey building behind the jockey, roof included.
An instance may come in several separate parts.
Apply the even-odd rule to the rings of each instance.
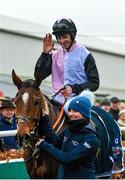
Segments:
[[[51,33],[51,27],[0,16],[0,90],[6,96],[15,96],[17,91],[11,79],[12,69],[23,79],[34,78],[41,41],[47,32]],[[125,99],[125,46],[84,35],[77,35],[77,42],[84,44],[96,59],[101,82],[96,94]],[[50,77],[41,84],[47,94],[51,94],[50,86]]]

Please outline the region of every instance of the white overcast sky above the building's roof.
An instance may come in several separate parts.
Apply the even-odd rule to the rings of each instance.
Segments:
[[[0,15],[50,26],[71,18],[78,34],[125,44],[125,0],[0,0]]]

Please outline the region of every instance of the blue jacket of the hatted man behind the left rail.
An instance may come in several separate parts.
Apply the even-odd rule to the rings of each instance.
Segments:
[[[9,123],[2,115],[0,115],[0,131],[16,130],[15,116],[12,117],[12,123]],[[15,136],[3,137],[4,144],[7,149],[17,149]]]

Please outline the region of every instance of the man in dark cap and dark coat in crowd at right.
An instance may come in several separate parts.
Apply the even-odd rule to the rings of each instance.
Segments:
[[[112,97],[110,99],[109,113],[116,121],[118,121],[119,119],[119,104],[120,104],[120,100],[117,97]]]

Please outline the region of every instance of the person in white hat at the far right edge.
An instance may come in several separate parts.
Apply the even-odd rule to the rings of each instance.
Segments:
[[[119,112],[118,124],[121,127],[125,127],[125,109]],[[122,140],[125,141],[125,130],[122,131]]]

